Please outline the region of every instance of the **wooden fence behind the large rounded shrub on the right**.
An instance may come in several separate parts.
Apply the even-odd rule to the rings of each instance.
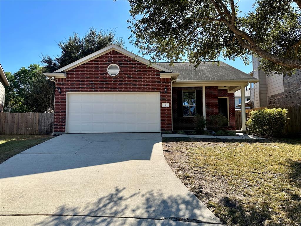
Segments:
[[[274,107],[260,107],[254,109],[247,109],[246,110],[246,120],[248,120],[248,116],[250,111],[264,109],[264,108],[274,108]],[[279,108],[279,107],[278,107]],[[285,108],[289,112],[287,113],[288,124],[285,126],[284,132],[285,133],[301,133],[301,106],[298,107],[280,107]],[[235,111],[235,119],[236,119],[236,129],[241,129],[241,110]]]

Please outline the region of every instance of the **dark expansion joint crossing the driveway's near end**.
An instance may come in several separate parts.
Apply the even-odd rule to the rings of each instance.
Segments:
[[[163,218],[147,218],[147,217],[128,217],[128,216],[105,216],[105,215],[79,215],[79,214],[0,214],[0,216],[72,216],[72,217],[98,217],[98,218],[128,218],[128,219],[142,219],[142,220],[159,220],[159,221],[181,221],[181,222],[191,222],[199,224],[213,224],[213,225],[223,225],[222,223],[201,221],[191,218],[182,217],[163,217]]]

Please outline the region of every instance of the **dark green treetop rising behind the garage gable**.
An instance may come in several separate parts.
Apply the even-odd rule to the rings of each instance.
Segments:
[[[74,32],[73,36],[69,36],[65,41],[58,43],[58,46],[62,50],[60,56],[51,58],[49,55],[43,55],[42,63],[45,71],[54,72],[110,44],[120,47],[124,46],[122,38],[115,37],[114,30],[105,32],[103,30],[98,31],[92,27],[84,37],[79,37],[78,33]]]

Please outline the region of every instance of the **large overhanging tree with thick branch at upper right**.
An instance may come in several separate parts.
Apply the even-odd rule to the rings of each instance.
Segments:
[[[129,0],[131,42],[152,61],[197,63],[219,56],[261,58],[259,69],[292,75],[301,69],[301,1],[256,0],[241,12],[234,0]]]

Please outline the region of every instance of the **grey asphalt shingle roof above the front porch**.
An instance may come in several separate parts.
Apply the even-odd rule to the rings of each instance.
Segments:
[[[180,73],[178,79],[181,81],[193,80],[257,80],[256,78],[234,68],[224,62],[203,62],[197,68],[189,62],[176,62],[169,66],[169,62],[157,63],[158,65]]]

